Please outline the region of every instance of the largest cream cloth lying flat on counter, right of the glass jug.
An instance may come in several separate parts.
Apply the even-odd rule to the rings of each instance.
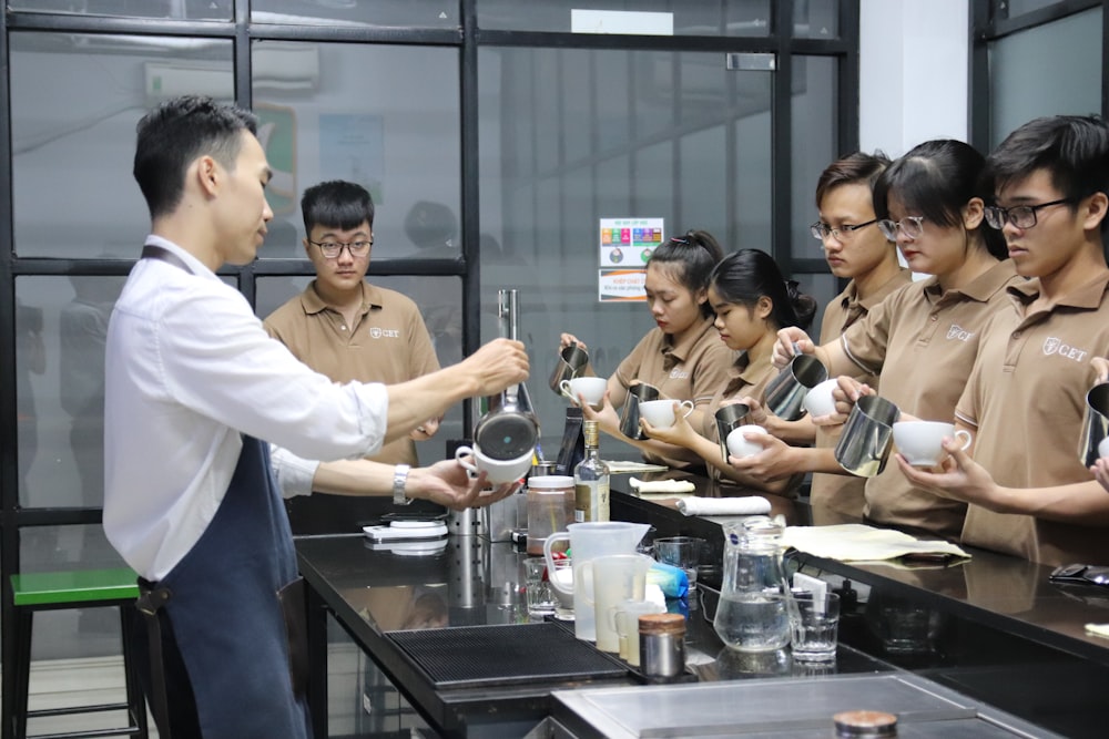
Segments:
[[[950,542],[918,540],[901,531],[876,528],[861,523],[788,526],[782,536],[782,543],[818,557],[841,562],[883,561],[914,554],[970,557]]]

